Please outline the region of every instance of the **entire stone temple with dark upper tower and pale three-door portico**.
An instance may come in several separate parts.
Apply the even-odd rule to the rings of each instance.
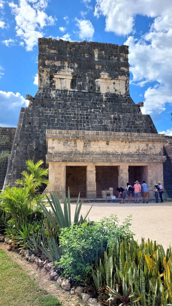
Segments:
[[[164,135],[129,95],[128,47],[39,39],[39,88],[22,107],[4,186],[27,159],[49,167],[47,191],[87,198],[145,180],[163,182]]]

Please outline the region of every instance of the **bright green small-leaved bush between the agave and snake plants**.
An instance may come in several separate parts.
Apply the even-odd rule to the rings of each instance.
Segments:
[[[129,217],[124,221],[126,227],[129,227],[130,219]],[[132,237],[132,232],[128,229],[126,234],[124,225],[119,226],[117,222],[117,217],[111,215],[110,218],[104,218],[92,225],[85,222],[61,229],[59,242],[63,254],[58,265],[64,269],[65,276],[84,280],[91,274],[92,266],[103,256],[109,241],[112,244],[117,237]]]

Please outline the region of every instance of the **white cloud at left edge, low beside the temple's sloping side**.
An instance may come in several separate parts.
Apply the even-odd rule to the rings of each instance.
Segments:
[[[0,90],[0,109],[8,108],[14,109],[18,106],[28,106],[29,101],[24,99],[24,97],[16,92],[14,94],[12,91],[2,91]]]

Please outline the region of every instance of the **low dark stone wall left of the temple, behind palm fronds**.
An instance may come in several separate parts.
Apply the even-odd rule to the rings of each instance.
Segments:
[[[2,138],[2,136],[8,136],[9,137],[9,141],[6,144],[4,144],[3,146],[0,146],[0,151],[1,150],[11,151],[14,136],[15,136],[15,132],[16,132],[16,128],[0,127],[0,139]],[[4,185],[4,180],[5,180],[5,177],[6,177],[7,164],[8,164],[8,158],[0,161],[0,190],[3,188],[3,185]]]

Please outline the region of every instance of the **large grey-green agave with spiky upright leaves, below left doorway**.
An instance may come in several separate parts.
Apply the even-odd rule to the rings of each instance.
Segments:
[[[40,201],[38,204],[41,207],[44,215],[48,218],[49,222],[52,224],[52,226],[54,226],[54,229],[60,233],[60,228],[63,227],[69,227],[71,225],[71,203],[70,203],[70,192],[69,192],[69,188],[68,188],[68,197],[66,197],[65,192],[62,190],[62,195],[63,195],[63,202],[64,202],[64,206],[63,206],[63,210],[61,207],[61,203],[60,200],[58,198],[57,192],[50,192],[50,197],[52,202],[50,201],[49,197],[46,195],[47,197],[47,201],[49,203],[50,209],[52,211],[52,213],[50,211],[47,210],[47,208],[45,207],[44,203],[42,201]],[[80,193],[78,196],[78,200],[77,200],[77,205],[76,205],[76,209],[75,209],[75,214],[74,214],[74,219],[73,219],[73,223],[77,224],[79,221],[79,215],[80,215],[80,211],[81,211],[81,207],[82,207],[82,200],[79,202],[80,200]],[[82,217],[81,215],[81,222],[85,222],[86,218],[91,210],[92,206],[90,207],[89,211],[85,214],[84,217]],[[53,215],[52,215],[53,214]]]

